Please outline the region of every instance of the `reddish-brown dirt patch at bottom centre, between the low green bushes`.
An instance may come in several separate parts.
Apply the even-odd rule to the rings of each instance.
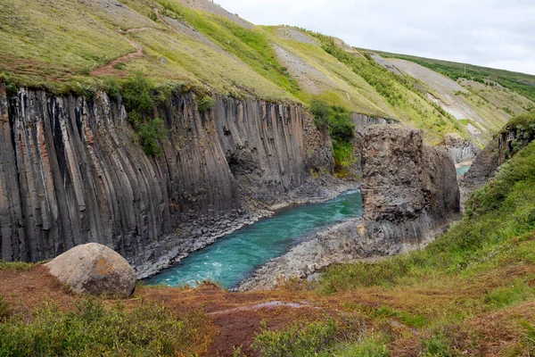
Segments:
[[[251,344],[260,332],[262,321],[268,328],[278,329],[293,322],[322,320],[325,314],[321,306],[308,302],[310,293],[306,292],[227,293],[211,284],[187,290],[143,286],[131,300],[142,297],[164,303],[178,313],[192,310],[206,313],[218,328],[210,356],[232,356],[234,347],[240,346],[245,355],[251,355]]]

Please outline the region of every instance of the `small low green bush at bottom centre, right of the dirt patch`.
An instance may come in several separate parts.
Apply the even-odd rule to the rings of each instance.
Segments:
[[[333,319],[314,322],[306,326],[292,325],[278,331],[270,331],[264,325],[251,347],[259,356],[307,357],[335,344],[337,325]]]

